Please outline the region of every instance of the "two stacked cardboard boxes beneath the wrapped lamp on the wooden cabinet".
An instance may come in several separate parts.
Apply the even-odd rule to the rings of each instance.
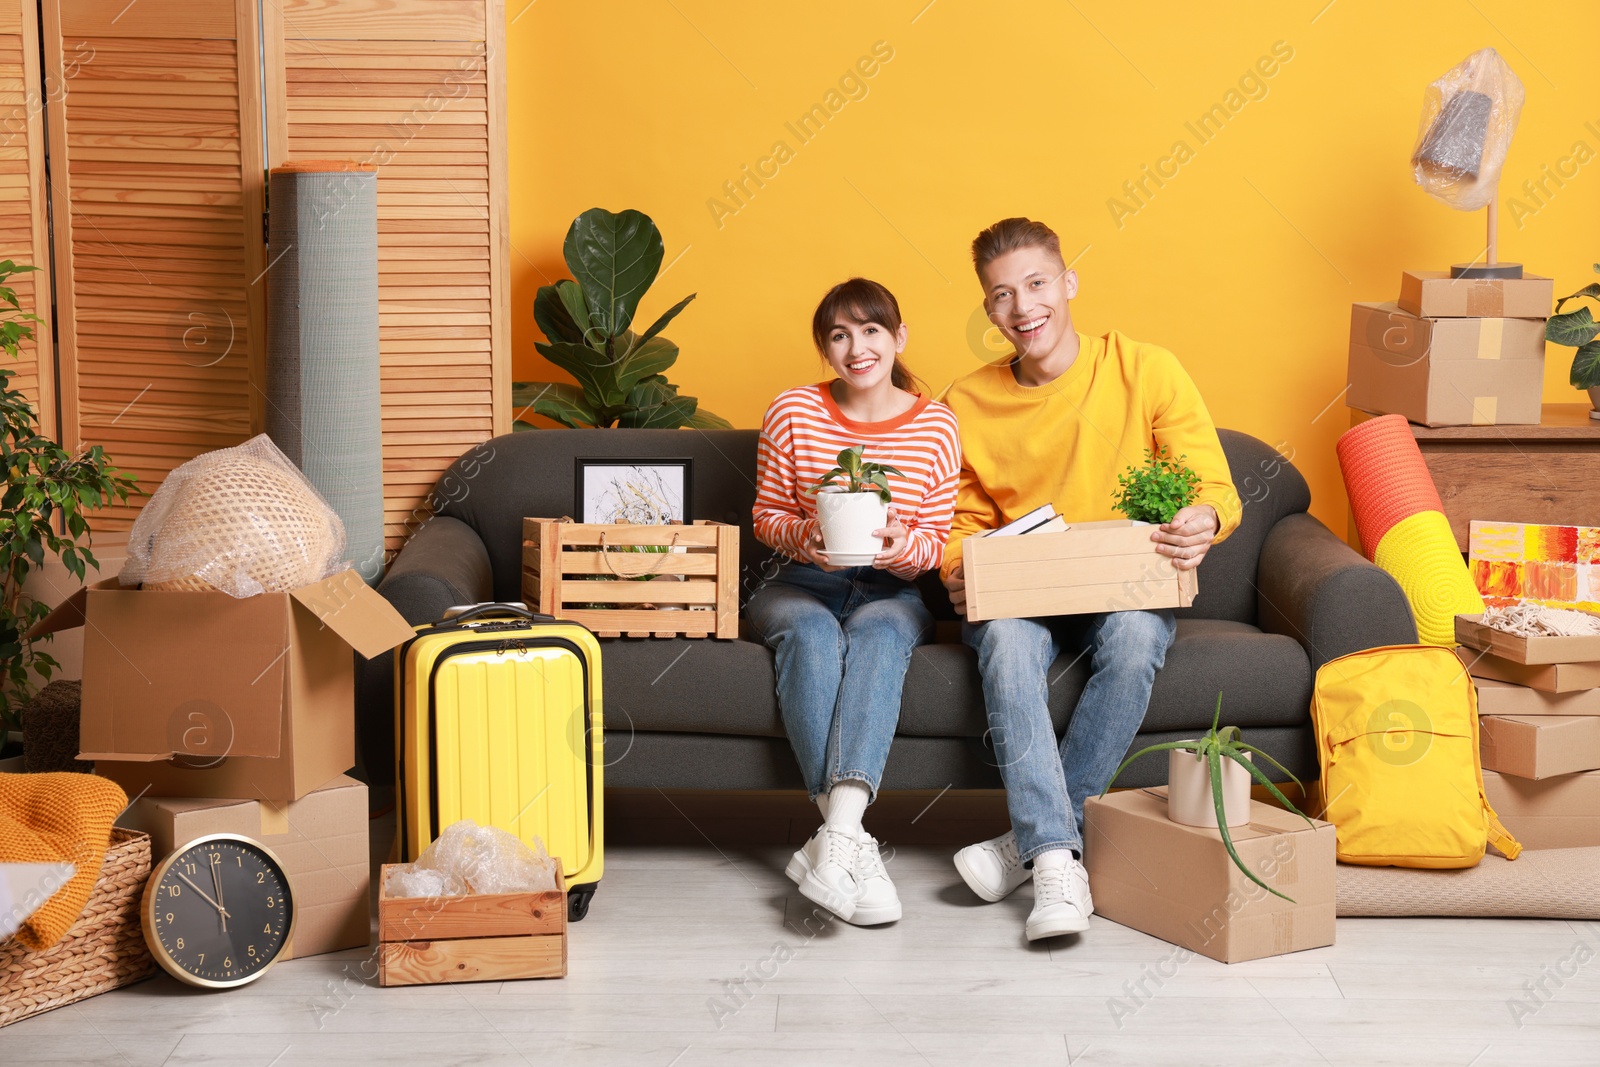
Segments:
[[[1397,302],[1350,309],[1346,403],[1422,426],[1538,424],[1554,285],[1405,272]]]

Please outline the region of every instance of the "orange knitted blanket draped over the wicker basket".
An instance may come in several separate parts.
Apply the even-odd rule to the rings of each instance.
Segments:
[[[78,870],[22,928],[26,949],[48,949],[72,929],[94,891],[110,824],[128,795],[96,774],[0,774],[0,862],[67,862]]]

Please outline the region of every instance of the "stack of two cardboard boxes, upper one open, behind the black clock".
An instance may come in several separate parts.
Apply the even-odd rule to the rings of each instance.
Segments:
[[[30,637],[83,627],[80,758],[136,798],[123,824],[163,857],[206,833],[277,853],[293,953],[365,945],[366,787],[355,763],[355,657],[413,635],[355,571],[286,593],[78,590]]]

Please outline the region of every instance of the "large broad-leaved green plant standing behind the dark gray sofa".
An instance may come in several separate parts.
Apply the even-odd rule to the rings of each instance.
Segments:
[[[645,333],[632,330],[662,251],[661,230],[642,211],[589,208],[573,219],[562,254],[576,280],[539,286],[533,318],[547,341],[533,347],[578,384],[512,382],[518,414],[531,410],[570,427],[731,429],[662,374],[677,362],[678,346],[661,331],[694,294],[669,307]],[[518,419],[515,429],[533,426]]]

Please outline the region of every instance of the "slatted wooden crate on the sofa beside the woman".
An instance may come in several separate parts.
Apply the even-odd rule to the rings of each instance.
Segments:
[[[638,581],[658,574],[680,581]],[[522,598],[600,637],[739,637],[739,528],[523,518]]]

